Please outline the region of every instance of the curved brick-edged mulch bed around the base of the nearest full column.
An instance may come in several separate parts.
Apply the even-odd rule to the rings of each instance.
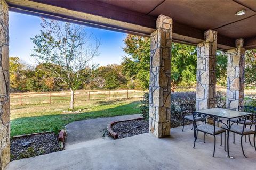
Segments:
[[[183,120],[171,116],[171,128],[183,125]],[[192,124],[191,121],[185,120],[185,125]],[[111,129],[118,134],[118,138],[126,138],[134,135],[148,133],[148,121],[146,120],[130,120],[115,123]]]

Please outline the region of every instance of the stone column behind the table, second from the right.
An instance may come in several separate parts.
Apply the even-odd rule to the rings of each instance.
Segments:
[[[202,43],[197,45],[196,109],[216,105],[216,50],[217,31],[207,30]]]

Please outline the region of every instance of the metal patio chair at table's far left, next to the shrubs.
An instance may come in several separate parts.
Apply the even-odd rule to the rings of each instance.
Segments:
[[[195,121],[198,122],[198,121],[206,121],[205,118],[203,117],[197,117],[196,120],[194,121],[194,118],[193,118],[193,105],[190,104],[190,103],[185,103],[185,104],[181,104],[180,105],[180,109],[181,109],[181,114],[182,114],[182,117],[183,117],[183,128],[182,128],[182,132],[184,130],[184,125],[185,125],[185,120],[188,120],[188,121],[193,121],[193,126],[192,126],[192,129],[194,128],[194,124],[195,124]]]

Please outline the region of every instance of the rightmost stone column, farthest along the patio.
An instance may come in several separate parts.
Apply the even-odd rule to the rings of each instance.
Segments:
[[[226,108],[237,110],[244,102],[245,49],[243,39],[237,39],[234,49],[228,50]]]

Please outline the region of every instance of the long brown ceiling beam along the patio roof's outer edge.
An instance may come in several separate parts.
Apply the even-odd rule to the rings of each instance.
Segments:
[[[149,37],[156,18],[99,1],[7,0],[9,10],[90,27]],[[173,40],[191,45],[204,41],[204,31],[173,22]],[[217,48],[234,48],[235,40],[218,35]]]

